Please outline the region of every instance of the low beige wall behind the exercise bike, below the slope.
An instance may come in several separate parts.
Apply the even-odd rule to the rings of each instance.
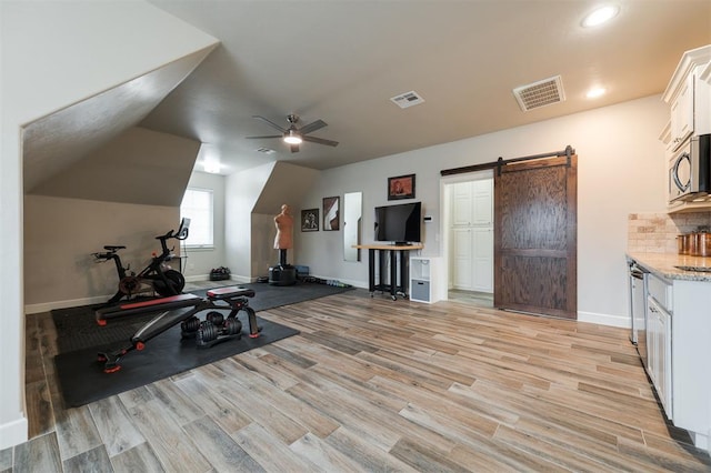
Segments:
[[[124,268],[139,272],[160,253],[156,236],[178,230],[179,217],[178,207],[26,195],[26,313],[106,302],[118,290],[118,273],[112,261],[97,263],[91,253],[124,245]],[[178,240],[167,243],[180,252]]]

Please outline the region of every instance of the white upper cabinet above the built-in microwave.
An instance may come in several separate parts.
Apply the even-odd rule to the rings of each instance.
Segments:
[[[684,52],[662,95],[671,111],[671,149],[691,134],[711,133],[711,83],[704,80],[711,44]]]

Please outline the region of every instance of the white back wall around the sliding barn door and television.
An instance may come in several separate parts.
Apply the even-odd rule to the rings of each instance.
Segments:
[[[563,150],[578,155],[579,320],[624,326],[627,322],[627,218],[663,211],[664,148],[658,135],[669,120],[660,97],[648,97],[481,137],[324,171],[301,202],[363,192],[364,242],[372,242],[373,208],[387,204],[387,179],[417,174],[415,200],[433,221],[424,223],[422,254],[441,255],[440,171]],[[444,179],[445,180],[445,179]],[[392,202],[391,202],[392,203]],[[344,262],[341,232],[297,232],[297,264],[311,273],[367,286],[368,261]]]

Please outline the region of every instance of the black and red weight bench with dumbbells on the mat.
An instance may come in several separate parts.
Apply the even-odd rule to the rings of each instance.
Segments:
[[[184,298],[180,298],[181,295]],[[257,314],[254,313],[254,310],[249,306],[248,298],[253,296],[254,291],[252,289],[229,286],[210,290],[204,299],[194,294],[180,294],[163,298],[163,300],[169,299],[171,301],[160,302],[161,299],[153,300],[156,303],[148,305],[143,305],[142,302],[124,304],[139,305],[127,309],[129,311],[142,311],[132,312],[133,314],[149,313],[150,311],[160,311],[160,313],[148,321],[131,336],[130,345],[111,352],[100,352],[98,354],[98,360],[104,363],[103,371],[106,373],[119,371],[121,369],[119,360],[122,356],[133,350],[143,350],[149,340],[160,335],[178,323],[180,323],[181,338],[186,339],[194,336],[198,349],[214,346],[217,343],[222,343],[232,339],[239,340],[242,336],[242,323],[237,319],[237,315],[242,311],[247,313],[249,336],[256,339],[259,336],[261,328],[257,325]],[[153,301],[146,302],[150,303]],[[179,305],[172,305],[170,310],[166,310],[167,305],[172,303]],[[208,310],[210,310],[210,312],[207,313],[206,320],[200,321],[197,314]],[[218,310],[230,310],[230,313],[224,318],[222,313],[217,312]],[[126,315],[126,312],[123,314]],[[106,313],[102,315],[106,316]],[[99,321],[99,319],[97,320]],[[99,323],[101,324],[101,322]]]

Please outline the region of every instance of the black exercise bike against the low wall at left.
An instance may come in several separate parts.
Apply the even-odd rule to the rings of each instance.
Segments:
[[[150,285],[154,292],[162,296],[180,294],[186,286],[186,279],[180,271],[173,270],[168,265],[168,262],[176,258],[172,253],[173,249],[168,248],[168,240],[187,239],[189,227],[190,219],[182,219],[176,233],[170,230],[164,235],[156,236],[156,240],[160,240],[161,253],[153,253],[149,264],[138,274],[130,271],[130,264],[126,268],[123,266],[121,256],[118,253],[119,250],[126,248],[123,245],[106,245],[103,246],[107,250],[106,252],[91,253],[98,263],[113,260],[119,273],[119,290],[104,305],[113,304],[124,296],[131,298],[131,295],[141,292],[147,285]]]

